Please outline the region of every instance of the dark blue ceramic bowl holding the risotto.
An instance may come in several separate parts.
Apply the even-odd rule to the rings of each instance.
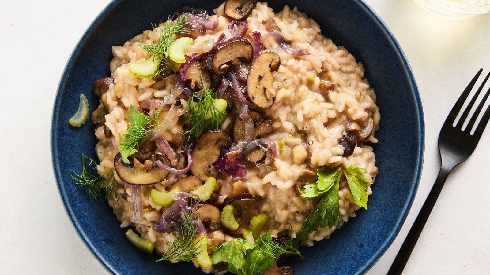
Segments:
[[[181,6],[211,11],[223,0],[114,0],[89,26],[73,50],[61,76],[51,124],[51,154],[59,192],[73,226],[98,261],[114,274],[201,274],[191,263],[156,262],[124,237],[112,209],[87,199],[75,189],[68,169],[80,171],[82,153],[96,159],[96,138],[90,120],[80,128],[68,125],[80,93],[91,111],[98,97],[94,80],[110,75],[111,46],[150,28]],[[412,205],[422,170],[424,122],[417,86],[400,46],[378,15],[362,0],[268,1],[278,11],[297,6],[316,20],[322,34],[342,45],[366,68],[377,94],[381,128],[374,145],[379,175],[369,196],[369,210],[357,211],[329,240],[302,248],[305,260],[290,263],[297,274],[363,274],[390,246]],[[156,3],[159,3],[158,5]]]

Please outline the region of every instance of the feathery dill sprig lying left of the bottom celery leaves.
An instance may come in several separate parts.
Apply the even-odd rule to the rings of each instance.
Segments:
[[[194,245],[194,236],[197,232],[197,223],[193,223],[194,209],[190,209],[189,213],[187,213],[184,209],[182,209],[182,218],[183,222],[179,222],[180,228],[182,231],[182,235],[177,235],[171,233],[171,238],[168,239],[165,234],[163,237],[167,241],[169,247],[163,253],[163,256],[158,261],[192,261],[197,255],[199,255],[199,248],[202,246]],[[198,220],[197,220],[198,221]],[[162,233],[163,234],[163,233]]]

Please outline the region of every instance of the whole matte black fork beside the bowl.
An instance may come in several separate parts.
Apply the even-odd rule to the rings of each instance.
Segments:
[[[466,107],[465,111],[463,111],[463,114],[461,115],[459,121],[456,121],[456,118],[460,113],[463,104],[468,98],[468,95],[473,89],[473,86],[475,86],[475,83],[478,77],[480,77],[482,71],[483,69],[480,69],[478,73],[473,77],[473,79],[468,84],[465,91],[461,94],[460,98],[447,116],[446,121],[444,121],[444,124],[442,125],[441,133],[439,134],[439,153],[441,154],[441,170],[439,171],[439,176],[437,177],[436,183],[434,183],[434,186],[432,187],[429,196],[427,196],[427,199],[425,200],[422,209],[420,209],[417,219],[415,220],[414,225],[405,238],[405,241],[403,242],[400,251],[396,255],[396,258],[394,259],[393,264],[388,271],[388,275],[400,275],[403,272],[408,258],[414,250],[415,244],[417,243],[418,237],[420,236],[420,232],[422,232],[422,229],[425,226],[425,222],[427,222],[427,218],[429,218],[430,212],[436,204],[436,200],[441,193],[442,186],[444,185],[447,176],[454,167],[465,161],[471,155],[471,153],[473,153],[476,145],[478,144],[478,141],[482,137],[483,130],[485,130],[485,127],[487,126],[490,118],[490,106],[485,111],[485,114],[482,116],[482,119],[480,123],[478,123],[473,134],[471,134],[471,130],[473,129],[473,126],[475,125],[478,116],[482,112],[487,98],[489,97],[490,89],[487,91],[482,101],[476,108],[473,116],[471,116],[466,128],[462,128],[466,121],[466,118],[469,115],[469,112],[471,111],[471,108],[478,98],[478,95],[483,90],[485,83],[489,79],[490,73],[487,75],[487,77],[485,77],[485,80],[483,80],[475,95],[469,101],[468,106]],[[456,126],[453,126],[454,122],[457,122]]]

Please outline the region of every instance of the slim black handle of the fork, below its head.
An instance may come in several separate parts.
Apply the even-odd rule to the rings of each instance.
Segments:
[[[442,162],[442,164],[444,164],[444,161]],[[442,186],[446,182],[447,176],[454,168],[454,166],[451,168],[447,168],[447,166],[444,166],[445,165],[441,166],[441,170],[439,171],[439,176],[437,177],[436,183],[434,183],[434,186],[430,190],[429,196],[427,196],[424,205],[420,209],[417,219],[415,219],[412,228],[408,232],[408,235],[405,238],[405,241],[403,242],[400,251],[398,252],[398,254],[396,254],[396,257],[387,275],[402,274],[403,269],[407,264],[408,258],[410,258],[410,254],[414,250],[415,244],[417,243],[418,237],[420,236],[420,232],[422,232],[422,229],[424,228],[425,223],[429,218],[432,208],[434,208],[434,205],[439,198],[439,194],[441,194]]]

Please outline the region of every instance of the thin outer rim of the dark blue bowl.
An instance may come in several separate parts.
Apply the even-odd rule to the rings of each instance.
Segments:
[[[94,255],[94,257],[98,260],[98,262],[111,274],[118,275],[118,271],[113,267],[113,264],[109,261],[107,261],[104,257],[99,255],[99,252],[96,251],[94,244],[92,243],[90,236],[86,234],[83,230],[81,230],[81,225],[78,219],[76,218],[75,211],[73,208],[70,206],[70,204],[67,201],[66,194],[64,190],[61,188],[60,182],[58,181],[58,178],[60,178],[60,163],[58,157],[58,148],[56,145],[55,137],[57,137],[57,129],[54,127],[54,122],[56,119],[56,114],[57,114],[57,102],[60,101],[61,97],[61,91],[66,85],[66,78],[68,76],[68,72],[70,71],[71,67],[73,66],[73,61],[75,59],[75,56],[78,54],[80,51],[81,46],[83,45],[84,41],[88,37],[89,33],[94,29],[94,27],[100,22],[100,20],[121,0],[112,0],[110,3],[108,3],[102,11],[97,15],[97,17],[90,23],[90,25],[87,27],[83,35],[80,37],[78,42],[76,43],[76,46],[73,48],[72,53],[70,54],[70,58],[68,59],[65,68],[63,69],[63,73],[61,74],[59,83],[58,83],[58,88],[56,90],[56,95],[54,98],[53,102],[53,111],[51,115],[51,129],[50,129],[50,148],[51,148],[51,162],[53,164],[53,173],[54,173],[54,179],[58,188],[58,192],[61,198],[61,201],[63,203],[63,206],[65,208],[65,211],[70,218],[70,221],[72,223],[73,228],[75,229],[76,233],[80,237],[80,239],[83,241],[85,246],[89,249],[89,251]],[[398,55],[398,58],[400,61],[403,63],[404,71],[405,74],[408,76],[410,79],[410,87],[412,88],[412,92],[414,94],[415,102],[417,104],[417,117],[418,117],[418,132],[420,134],[419,138],[419,151],[418,151],[418,162],[416,165],[416,175],[415,175],[415,184],[413,185],[413,190],[410,194],[409,200],[405,203],[405,205],[402,207],[402,212],[401,215],[399,216],[398,220],[396,221],[396,227],[392,230],[388,238],[385,240],[385,242],[379,247],[379,249],[374,253],[373,257],[371,257],[365,265],[363,265],[355,274],[365,274],[380,258],[381,256],[388,250],[388,248],[391,246],[393,243],[394,239],[400,232],[401,227],[403,226],[408,212],[410,211],[410,208],[414,202],[415,196],[417,194],[417,189],[418,185],[420,183],[420,177],[422,174],[422,166],[423,166],[423,159],[424,159],[424,147],[425,147],[425,122],[424,122],[424,115],[423,115],[423,108],[422,108],[422,103],[420,99],[420,94],[418,92],[417,88],[417,82],[415,81],[415,77],[412,72],[412,68],[410,67],[410,64],[407,60],[407,57],[405,56],[405,53],[401,49],[401,46],[398,44],[396,39],[394,38],[392,32],[386,25],[386,23],[381,19],[381,17],[372,9],[371,6],[368,5],[364,0],[352,0],[354,3],[357,3],[368,15],[371,16],[371,18],[374,20],[374,23],[376,23],[383,31],[383,34],[388,38],[388,40],[391,42],[392,46],[395,49],[396,54]]]

